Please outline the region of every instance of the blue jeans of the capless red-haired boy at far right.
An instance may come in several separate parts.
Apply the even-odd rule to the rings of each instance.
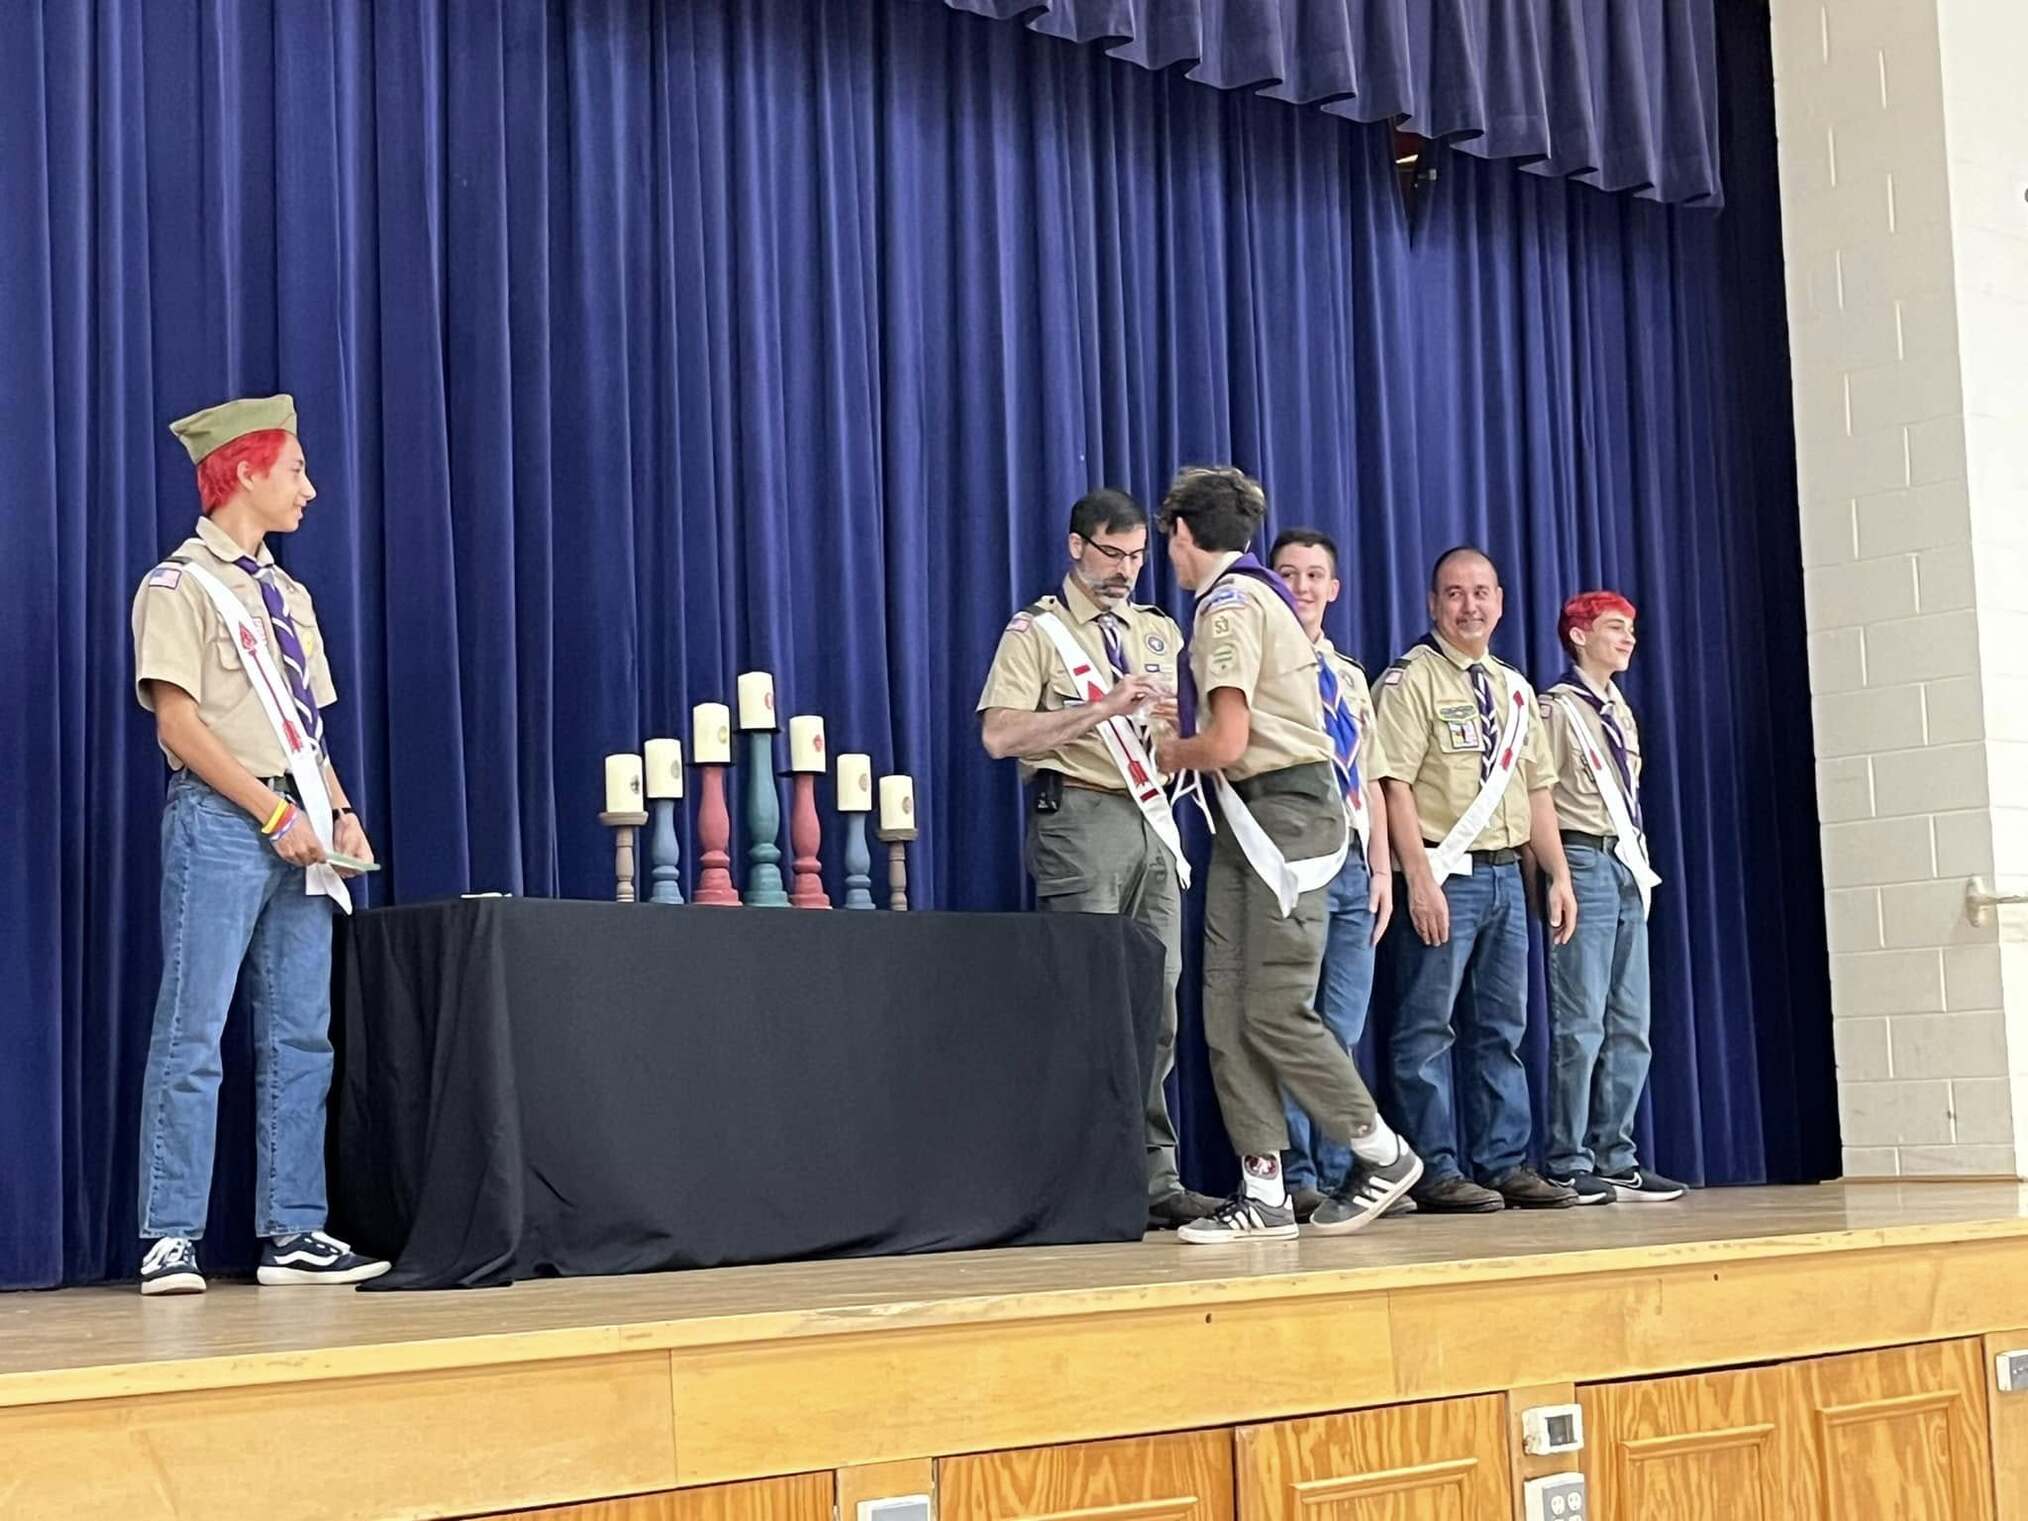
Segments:
[[[1578,933],[1549,945],[1549,1172],[1635,1166],[1635,1105],[1649,1069],[1647,919],[1635,874],[1566,844]]]

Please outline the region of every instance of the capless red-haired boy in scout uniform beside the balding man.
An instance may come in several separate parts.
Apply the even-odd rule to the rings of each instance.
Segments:
[[[1649,1073],[1647,917],[1661,878],[1641,827],[1641,726],[1614,677],[1635,657],[1635,604],[1582,592],[1558,637],[1570,669],[1541,694],[1555,825],[1578,933],[1549,945],[1549,1176],[1580,1205],[1657,1205],[1683,1184],[1643,1168],[1635,1107]]]

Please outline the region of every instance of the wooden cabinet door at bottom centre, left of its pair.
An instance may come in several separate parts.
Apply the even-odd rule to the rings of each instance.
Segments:
[[[982,1452],[937,1464],[937,1521],[1233,1521],[1231,1432]]]

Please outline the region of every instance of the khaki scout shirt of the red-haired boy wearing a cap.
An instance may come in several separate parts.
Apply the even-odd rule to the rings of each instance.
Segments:
[[[268,651],[276,653],[274,629],[268,625],[268,608],[262,602],[260,586],[233,562],[241,556],[231,533],[209,517],[199,521],[197,533],[176,546],[174,558],[209,570],[241,606],[260,621],[268,633]],[[260,564],[272,564],[268,546],[256,556]],[[288,572],[276,570],[282,588],[282,602],[288,617],[296,621],[302,637],[302,653],[310,663],[310,696],[318,708],[329,708],[339,700],[331,685],[331,665],[324,659],[324,637],[316,627],[316,608],[310,594]],[[280,655],[276,653],[280,661]],[[233,645],[231,629],[211,604],[211,596],[197,584],[183,566],[164,560],[148,572],[134,594],[134,696],[142,708],[154,710],[148,696],[148,681],[168,681],[197,698],[197,718],[219,736],[227,752],[256,777],[280,777],[288,771],[282,754],[282,740],[276,738],[268,714],[254,696],[254,679],[239,663],[239,649]],[[162,746],[168,765],[183,769],[183,758]]]

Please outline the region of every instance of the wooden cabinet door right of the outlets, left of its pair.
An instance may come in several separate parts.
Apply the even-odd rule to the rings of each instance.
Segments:
[[[1584,1405],[1598,1521],[1803,1521],[1819,1509],[1787,1369],[1600,1383]]]

